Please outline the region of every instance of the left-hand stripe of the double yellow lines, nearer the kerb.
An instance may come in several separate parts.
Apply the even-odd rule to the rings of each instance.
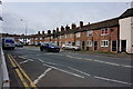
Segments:
[[[10,57],[9,55],[8,55],[8,58],[10,59],[11,65],[16,68],[17,66],[16,66],[16,63],[12,61],[12,59],[11,59],[11,57]],[[20,70],[19,70],[19,69],[16,69],[16,71],[17,71],[17,75],[19,76],[20,80],[22,81],[23,86],[24,86],[25,88],[29,88],[29,86],[28,86],[28,83],[25,82],[25,80],[24,80],[23,76],[21,75]]]

